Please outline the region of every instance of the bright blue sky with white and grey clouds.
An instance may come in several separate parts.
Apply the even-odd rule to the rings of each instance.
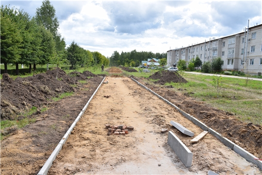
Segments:
[[[59,32],[91,52],[111,56],[151,51],[165,53],[211,37],[239,33],[262,23],[262,1],[73,1],[50,0]],[[35,16],[42,0],[1,0]]]

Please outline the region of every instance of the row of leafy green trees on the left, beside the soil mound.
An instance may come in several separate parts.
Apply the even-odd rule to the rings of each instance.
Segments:
[[[109,59],[98,52],[84,50],[74,41],[66,48],[65,38],[58,32],[59,21],[49,0],[36,9],[35,17],[19,9],[1,6],[1,64],[18,64],[36,70],[36,65],[70,64],[72,67],[109,65]],[[48,68],[47,68],[48,69]]]

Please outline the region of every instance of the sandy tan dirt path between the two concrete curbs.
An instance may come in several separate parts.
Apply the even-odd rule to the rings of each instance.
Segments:
[[[108,77],[63,146],[49,175],[84,174],[261,174],[254,164],[227,148],[211,134],[192,144],[170,121],[195,133],[203,130],[129,78]],[[105,98],[107,95],[110,97]],[[105,124],[126,124],[126,136],[107,136]],[[173,131],[193,153],[186,168],[167,144]],[[161,166],[159,166],[161,165]]]

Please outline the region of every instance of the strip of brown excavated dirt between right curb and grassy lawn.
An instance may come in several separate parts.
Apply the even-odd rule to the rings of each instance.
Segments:
[[[148,88],[153,89],[154,92],[243,147],[249,153],[262,158],[261,125],[241,122],[232,113],[215,109],[205,102],[186,97],[188,93],[180,93],[180,90],[149,85],[143,78],[137,78],[137,80],[144,82]]]

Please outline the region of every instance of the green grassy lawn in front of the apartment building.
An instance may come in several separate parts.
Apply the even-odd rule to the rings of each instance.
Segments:
[[[222,77],[221,90],[213,86],[213,76],[184,74],[188,83],[167,83],[175,89],[182,88],[194,92],[191,97],[205,101],[218,109],[232,112],[241,121],[262,125],[262,81]]]

